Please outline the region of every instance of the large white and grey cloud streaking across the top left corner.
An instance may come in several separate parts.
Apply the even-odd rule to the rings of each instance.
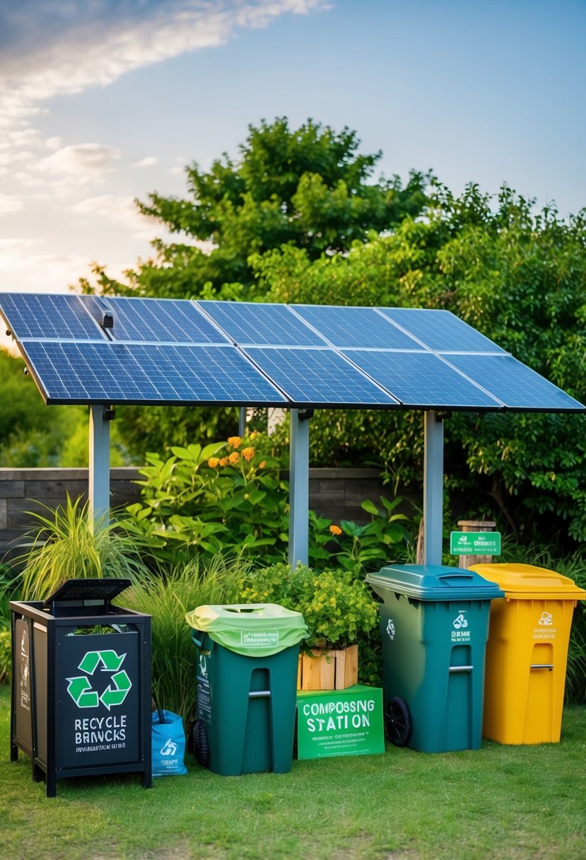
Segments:
[[[223,44],[235,28],[285,13],[325,9],[325,0],[20,0],[0,8],[0,126],[21,126],[54,95],[106,86],[128,71]]]

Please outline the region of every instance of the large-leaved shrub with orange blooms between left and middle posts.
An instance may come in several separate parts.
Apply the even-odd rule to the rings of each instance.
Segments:
[[[173,446],[172,456],[147,454],[142,501],[126,508],[125,527],[162,560],[195,552],[263,556],[286,553],[289,485],[282,463],[261,434],[227,443]]]

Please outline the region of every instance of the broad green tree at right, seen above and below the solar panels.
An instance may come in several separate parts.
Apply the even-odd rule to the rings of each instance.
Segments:
[[[285,248],[253,266],[274,301],[452,310],[584,402],[586,212],[563,219],[553,206],[533,208],[507,186],[493,200],[476,185],[456,197],[436,183],[424,218],[406,217],[348,255],[312,261]],[[312,438],[320,460],[360,462],[370,452],[395,485],[420,480],[422,422],[412,413],[318,413]],[[518,532],[586,536],[585,456],[582,415],[458,413],[446,422],[455,504]]]

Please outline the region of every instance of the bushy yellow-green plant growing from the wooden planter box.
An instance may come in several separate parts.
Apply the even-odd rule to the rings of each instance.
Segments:
[[[243,603],[277,603],[302,613],[309,638],[303,648],[345,648],[373,630],[378,605],[366,583],[350,570],[318,573],[298,565],[273,564],[247,574]]]

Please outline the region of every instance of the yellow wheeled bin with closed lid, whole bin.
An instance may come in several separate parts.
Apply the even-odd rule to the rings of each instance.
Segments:
[[[501,744],[557,743],[571,619],[586,591],[531,564],[475,564],[496,582],[485,663],[482,734]]]

